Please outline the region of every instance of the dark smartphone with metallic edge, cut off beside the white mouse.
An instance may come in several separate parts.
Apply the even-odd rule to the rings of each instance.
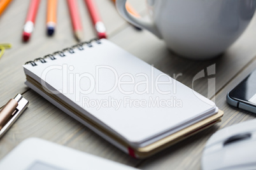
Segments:
[[[256,70],[227,93],[227,103],[256,114]]]

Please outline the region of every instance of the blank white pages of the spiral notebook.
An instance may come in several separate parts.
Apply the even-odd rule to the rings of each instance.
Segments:
[[[24,65],[25,73],[134,144],[215,114],[215,103],[112,42],[92,45],[34,67]]]

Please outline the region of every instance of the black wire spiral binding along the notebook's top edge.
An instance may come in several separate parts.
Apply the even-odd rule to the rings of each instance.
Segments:
[[[56,60],[57,58],[55,58],[55,55],[59,55],[61,57],[66,56],[65,53],[66,51],[68,51],[69,53],[73,54],[75,53],[74,49],[77,48],[79,50],[83,50],[84,49],[84,45],[87,44],[87,46],[89,48],[93,47],[92,46],[92,41],[95,41],[97,44],[101,44],[101,41],[97,38],[91,39],[90,41],[85,41],[85,42],[80,42],[78,44],[76,44],[75,46],[71,46],[70,48],[64,48],[61,51],[56,51],[54,52],[52,55],[46,55],[43,58],[36,58],[33,61],[29,61],[29,62],[25,62],[25,64],[31,64],[33,67],[36,66],[36,62],[40,61],[41,63],[46,63],[45,58],[50,58],[51,60]]]

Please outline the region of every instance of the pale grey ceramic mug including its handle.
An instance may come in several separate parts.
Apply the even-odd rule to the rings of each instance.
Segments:
[[[255,0],[147,0],[152,22],[127,12],[117,0],[120,15],[164,39],[169,49],[192,59],[220,55],[244,32],[255,12]]]

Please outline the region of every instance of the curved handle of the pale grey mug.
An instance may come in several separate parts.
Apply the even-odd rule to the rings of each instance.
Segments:
[[[159,37],[159,39],[162,39],[162,35],[160,34],[159,30],[157,30],[157,27],[153,22],[146,22],[144,20],[138,19],[134,16],[132,16],[125,8],[127,0],[117,0],[116,6],[117,10],[120,13],[121,16],[125,18],[128,22],[132,23],[133,25],[136,25],[137,27],[142,27],[143,29],[149,30],[155,36]]]

